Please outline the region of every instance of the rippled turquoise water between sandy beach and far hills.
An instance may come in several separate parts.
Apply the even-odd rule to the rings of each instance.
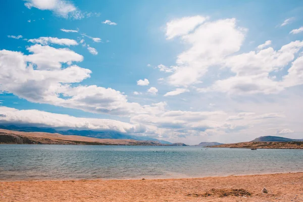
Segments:
[[[0,180],[182,178],[302,171],[303,149],[0,145]]]

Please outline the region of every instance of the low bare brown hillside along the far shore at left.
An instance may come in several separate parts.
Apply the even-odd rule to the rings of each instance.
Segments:
[[[158,141],[133,139],[100,139],[79,135],[46,132],[21,132],[0,129],[0,143],[11,144],[92,144],[92,145],[169,145]]]

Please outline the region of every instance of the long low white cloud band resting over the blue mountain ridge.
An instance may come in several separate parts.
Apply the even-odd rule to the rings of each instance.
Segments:
[[[79,118],[66,114],[55,114],[38,110],[17,110],[0,107],[0,123],[31,124],[54,128],[114,130],[123,133],[144,132],[140,125],[110,119]]]

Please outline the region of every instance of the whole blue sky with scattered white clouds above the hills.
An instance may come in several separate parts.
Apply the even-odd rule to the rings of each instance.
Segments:
[[[302,1],[0,3],[0,124],[303,138]]]

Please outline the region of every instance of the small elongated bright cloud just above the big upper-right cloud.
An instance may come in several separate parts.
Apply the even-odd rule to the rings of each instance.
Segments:
[[[172,39],[176,36],[188,34],[198,25],[204,23],[207,19],[208,17],[193,16],[172,20],[166,24],[167,39]]]

